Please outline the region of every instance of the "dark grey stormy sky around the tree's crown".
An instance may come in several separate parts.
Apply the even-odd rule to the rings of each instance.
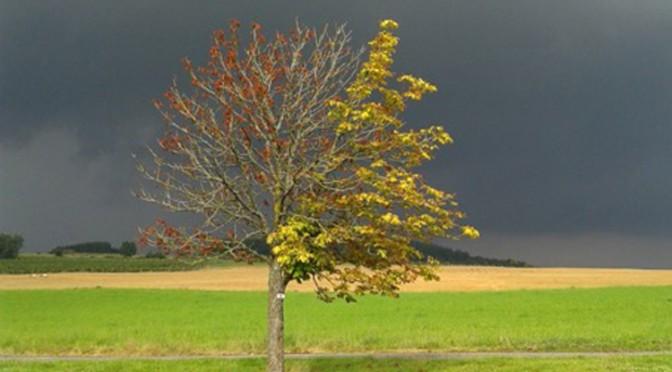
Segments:
[[[180,58],[237,18],[400,23],[395,69],[439,86],[409,125],[456,140],[424,169],[483,238],[539,265],[672,267],[672,2],[0,1],[0,231],[29,250],[118,243],[158,211],[131,153]]]

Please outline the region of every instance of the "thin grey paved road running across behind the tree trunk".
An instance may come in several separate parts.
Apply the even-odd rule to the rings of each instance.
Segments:
[[[287,359],[315,358],[373,358],[373,359],[420,359],[420,360],[459,360],[475,358],[576,358],[576,357],[618,357],[618,356],[655,356],[670,355],[672,351],[625,351],[625,352],[402,352],[402,353],[309,353],[286,354]],[[260,354],[231,355],[162,355],[162,356],[29,356],[0,355],[0,361],[22,362],[60,362],[60,361],[119,361],[119,360],[197,360],[197,359],[254,359],[262,358]]]

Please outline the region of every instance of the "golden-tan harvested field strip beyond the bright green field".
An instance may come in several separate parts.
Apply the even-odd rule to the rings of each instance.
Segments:
[[[264,266],[188,272],[0,275],[0,290],[101,287],[262,291],[266,288],[266,275]],[[418,281],[403,289],[440,292],[672,285],[672,270],[443,266],[439,276],[440,281]],[[292,284],[289,290],[311,291],[312,286]]]

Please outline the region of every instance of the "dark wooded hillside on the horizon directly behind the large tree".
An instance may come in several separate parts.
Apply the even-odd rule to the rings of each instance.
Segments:
[[[251,249],[261,253],[268,254],[268,244],[261,239],[253,239],[247,241],[247,246]],[[426,256],[431,256],[437,259],[442,264],[451,265],[470,265],[470,266],[505,266],[505,267],[531,267],[530,264],[507,259],[488,258],[481,256],[472,256],[471,254],[458,249],[443,247],[436,244],[413,242],[413,247],[422,252]]]

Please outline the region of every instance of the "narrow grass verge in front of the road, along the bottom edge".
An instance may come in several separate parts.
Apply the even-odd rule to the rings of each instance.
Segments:
[[[263,359],[242,361],[114,361],[114,362],[0,362],[0,370],[15,372],[70,371],[264,371]],[[672,357],[608,357],[608,358],[492,358],[477,360],[374,360],[313,359],[288,360],[287,370],[304,371],[669,371]]]

